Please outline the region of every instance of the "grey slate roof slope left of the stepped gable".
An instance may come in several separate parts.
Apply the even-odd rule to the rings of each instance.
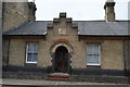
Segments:
[[[3,33],[3,35],[46,35],[48,22],[27,22],[14,29]]]

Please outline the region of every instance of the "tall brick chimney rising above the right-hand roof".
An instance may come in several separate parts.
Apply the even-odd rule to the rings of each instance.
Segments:
[[[115,21],[114,7],[115,7],[114,0],[106,0],[105,5],[104,5],[106,22],[114,22]]]

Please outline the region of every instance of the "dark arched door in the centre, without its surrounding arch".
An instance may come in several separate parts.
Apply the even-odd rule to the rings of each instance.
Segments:
[[[66,47],[60,46],[55,50],[54,72],[68,73],[69,71],[69,53]]]

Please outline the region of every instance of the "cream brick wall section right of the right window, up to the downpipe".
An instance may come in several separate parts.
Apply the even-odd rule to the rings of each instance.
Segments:
[[[123,41],[105,40],[102,44],[102,69],[123,70]]]

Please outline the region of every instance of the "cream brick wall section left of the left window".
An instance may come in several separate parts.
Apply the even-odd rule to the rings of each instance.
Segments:
[[[10,44],[10,60],[9,64],[11,65],[22,65],[25,64],[25,52],[26,52],[26,42],[18,39],[12,39]]]

